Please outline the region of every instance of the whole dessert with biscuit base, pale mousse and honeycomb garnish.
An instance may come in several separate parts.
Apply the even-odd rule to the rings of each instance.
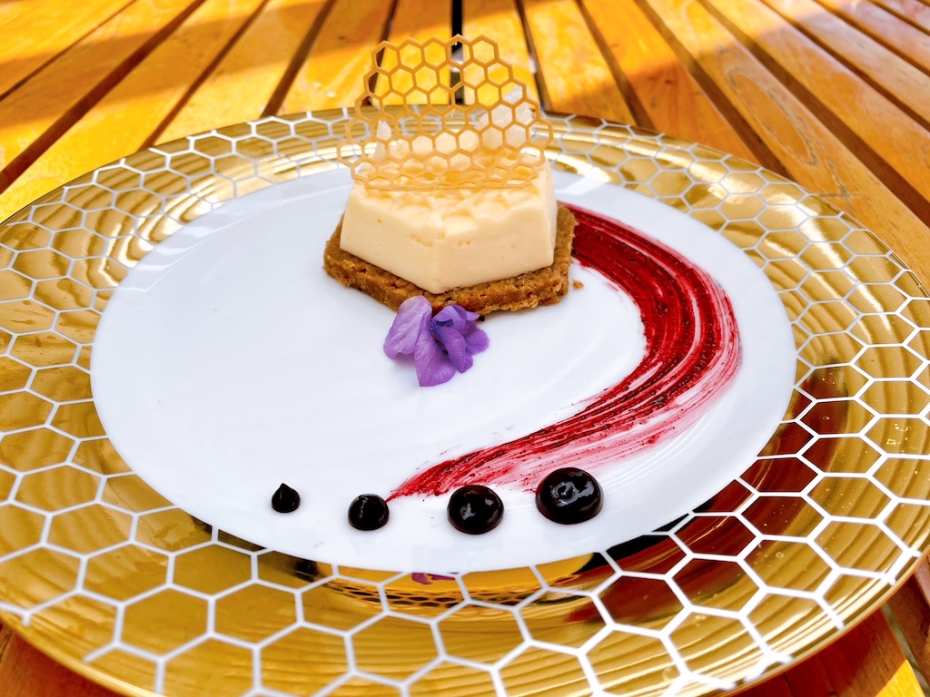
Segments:
[[[457,44],[461,60],[453,59]],[[526,85],[485,38],[381,51],[396,55],[366,76],[375,89],[356,101],[339,150],[354,184],[326,245],[326,272],[392,309],[411,296],[480,314],[558,302],[575,221],[555,202],[542,152],[551,127]],[[442,85],[439,75],[453,67],[458,82]],[[414,84],[404,95],[395,85],[402,79]],[[459,89],[470,104],[451,99]],[[408,105],[413,94],[427,106]],[[399,108],[387,108],[392,96]],[[365,99],[379,109],[366,111]],[[366,138],[356,135],[362,127]]]

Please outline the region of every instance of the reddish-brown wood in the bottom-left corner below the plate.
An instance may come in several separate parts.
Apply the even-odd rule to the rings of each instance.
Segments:
[[[33,649],[0,625],[0,691],[4,697],[116,697]]]

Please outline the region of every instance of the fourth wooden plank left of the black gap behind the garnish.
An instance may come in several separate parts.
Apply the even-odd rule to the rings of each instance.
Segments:
[[[72,178],[140,150],[259,7],[207,0],[0,195],[0,219]],[[2,174],[2,173],[0,173]],[[2,181],[0,190],[8,187]]]

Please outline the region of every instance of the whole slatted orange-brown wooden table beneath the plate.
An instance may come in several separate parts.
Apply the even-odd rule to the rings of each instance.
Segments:
[[[0,2],[0,219],[146,146],[352,103],[384,38],[487,34],[545,108],[642,125],[817,191],[930,280],[925,0]],[[916,695],[930,569],[761,697]],[[0,627],[5,697],[107,695]]]

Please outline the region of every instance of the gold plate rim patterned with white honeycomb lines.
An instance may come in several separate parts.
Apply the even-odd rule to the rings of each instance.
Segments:
[[[153,246],[335,168],[347,112],[167,143],[0,226],[0,619],[130,695],[699,695],[767,677],[875,610],[928,546],[930,302],[869,231],[719,151],[552,116],[556,166],[696,218],[777,289],[787,414],[705,505],[642,538],[451,578],[287,557],[212,529],[100,426],[100,312]]]

